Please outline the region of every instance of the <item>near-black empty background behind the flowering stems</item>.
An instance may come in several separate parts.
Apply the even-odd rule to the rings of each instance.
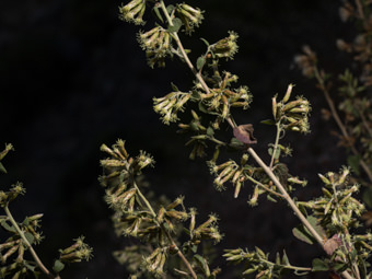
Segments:
[[[275,131],[259,121],[271,117],[275,93],[283,94],[288,83],[294,93],[313,104],[307,136],[289,135],[294,149],[287,161],[292,174],[310,181],[300,189],[300,199],[319,193],[317,173],[337,171],[345,164],[344,150],[329,132],[333,123],[321,118],[322,94],[293,67],[293,56],[309,44],[322,66],[342,71],[342,55],[335,46],[348,36],[350,26],[338,19],[338,0],[205,0],[189,1],[205,13],[205,24],[185,46],[194,46],[195,59],[204,51],[198,37],[213,43],[230,30],[240,34],[235,60],[224,63],[254,94],[253,107],[237,113],[240,123],[252,123],[258,138],[256,150],[267,156]],[[118,20],[119,1],[24,0],[0,2],[0,143],[11,142],[4,164],[8,175],[0,186],[21,181],[27,194],[11,205],[18,220],[44,212],[45,241],[37,247],[47,266],[60,247],[83,234],[94,248],[89,264],[73,265],[62,278],[126,278],[112,252],[123,247],[103,202],[97,183],[102,173],[101,143],[127,140],[128,151],[147,150],[156,160],[148,172],[152,189],[174,199],[186,196],[187,207],[197,207],[199,220],[216,212],[225,234],[219,249],[260,246],[275,254],[286,247],[293,264],[310,266],[321,257],[318,247],[300,243],[291,235],[298,223],[284,202],[263,198],[258,207],[246,201],[249,187],[239,199],[232,189],[218,193],[202,160],[189,161],[186,138],[175,127],[164,126],[152,111],[152,97],[171,91],[170,82],[182,90],[191,85],[185,65],[166,61],[165,69],[150,69],[136,40],[138,27]],[[149,28],[146,26],[144,28]],[[1,237],[4,237],[0,235]],[[223,278],[240,278],[218,259]],[[318,278],[325,278],[321,275]],[[309,278],[311,278],[309,276]]]

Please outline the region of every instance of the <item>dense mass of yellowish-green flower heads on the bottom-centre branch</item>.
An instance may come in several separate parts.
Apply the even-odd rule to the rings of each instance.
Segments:
[[[106,187],[105,200],[115,211],[113,222],[117,235],[130,235],[148,243],[131,247],[129,251],[116,252],[115,255],[120,263],[131,265],[133,271],[139,267],[133,266],[132,260],[128,258],[126,253],[129,253],[137,259],[143,259],[142,267],[148,272],[161,276],[164,274],[163,268],[167,258],[174,254],[182,254],[173,237],[183,231],[187,232],[189,237],[183,248],[189,249],[193,254],[202,240],[214,242],[221,240],[217,218],[211,216],[208,221],[196,226],[196,210],[190,209],[189,212],[186,210],[184,197],[178,197],[172,202],[165,200],[155,208],[152,206],[142,194],[139,181],[141,170],[154,162],[146,152],[141,151],[138,156],[131,158],[123,140],[118,140],[112,148],[103,144],[101,150],[109,155],[101,160],[105,174],[100,181]],[[183,223],[189,219],[190,225],[187,230],[183,228]],[[141,272],[137,270],[135,274],[137,276]]]

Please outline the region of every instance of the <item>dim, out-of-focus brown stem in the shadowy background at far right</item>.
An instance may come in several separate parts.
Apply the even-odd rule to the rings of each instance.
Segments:
[[[315,67],[315,70],[314,70],[314,74],[315,74],[315,78],[316,78],[317,82],[319,83],[319,88],[323,91],[324,96],[325,96],[325,98],[326,98],[326,101],[328,103],[332,116],[335,119],[338,128],[340,129],[344,138],[348,141],[348,143],[350,146],[350,149],[351,149],[351,152],[354,155],[361,158],[361,155],[359,154],[359,152],[356,149],[354,144],[350,141],[350,136],[349,136],[345,125],[342,124],[342,121],[341,121],[341,119],[340,119],[340,117],[339,117],[339,115],[337,113],[337,109],[335,107],[335,103],[332,100],[332,97],[329,95],[329,92],[328,92],[328,90],[326,89],[326,86],[324,84],[324,79],[321,77],[319,71],[318,71],[318,69],[316,67]],[[360,159],[359,163],[360,163],[361,167],[363,168],[363,171],[365,172],[365,174],[368,175],[370,182],[372,183],[372,173],[371,173],[370,167],[368,166],[368,164],[364,162],[363,159]]]

